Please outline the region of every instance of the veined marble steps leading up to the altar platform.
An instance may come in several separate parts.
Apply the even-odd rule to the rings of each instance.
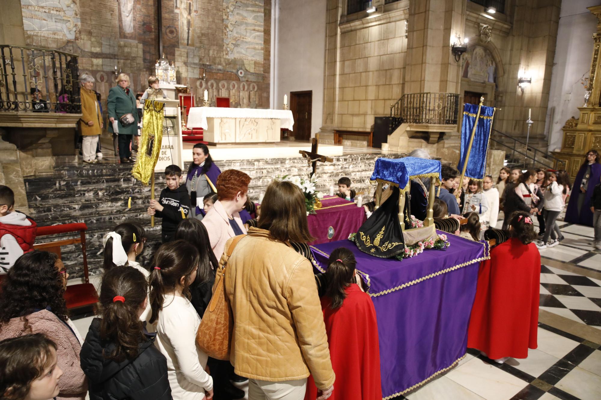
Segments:
[[[353,189],[365,197],[373,195],[375,186],[369,178],[374,162],[383,154],[353,154],[334,157],[333,163],[318,163],[318,189],[325,194],[329,186],[338,178],[346,176],[353,182]],[[403,157],[404,154],[386,154],[388,158]],[[239,169],[251,178],[249,197],[257,201],[260,192],[264,192],[273,178],[283,175],[307,174],[305,159],[260,159],[260,160],[216,160],[221,171]],[[84,222],[86,232],[87,256],[90,274],[102,273],[103,248],[102,237],[122,222],[138,222],[147,232],[147,243],[139,261],[148,265],[154,251],[160,246],[160,219],[156,219],[154,228],[150,226],[150,216],[146,214],[150,199],[150,186],[137,182],[132,184],[131,165],[103,163],[100,165],[63,165],[56,166],[51,175],[25,180],[25,190],[31,216],[40,226],[59,223]],[[165,177],[155,175],[156,197],[165,187]],[[132,207],[127,208],[127,198],[132,193]],[[61,234],[40,237],[37,243],[54,241],[69,237]],[[71,277],[84,274],[81,246],[70,245],[62,249],[62,258]]]

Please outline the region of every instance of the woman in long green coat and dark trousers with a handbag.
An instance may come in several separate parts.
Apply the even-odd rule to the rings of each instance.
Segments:
[[[136,110],[136,97],[133,91],[129,89],[129,76],[119,74],[117,76],[117,86],[109,90],[108,112],[109,112],[109,132],[114,133],[114,124],[117,124],[117,133],[119,136],[119,157],[121,163],[131,163],[132,135],[138,130],[138,111]],[[123,126],[123,117],[129,117],[132,124]],[[133,120],[132,120],[133,118]]]

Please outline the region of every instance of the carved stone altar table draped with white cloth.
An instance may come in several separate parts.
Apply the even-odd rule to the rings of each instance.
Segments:
[[[202,128],[210,145],[279,142],[280,129],[292,130],[290,110],[193,107],[188,129]]]

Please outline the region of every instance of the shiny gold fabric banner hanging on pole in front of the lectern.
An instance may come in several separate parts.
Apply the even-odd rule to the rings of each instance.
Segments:
[[[163,141],[163,121],[165,104],[146,100],[142,120],[142,136],[138,150],[138,159],[132,169],[132,177],[145,185],[154,174],[154,166],[159,160],[160,145]]]

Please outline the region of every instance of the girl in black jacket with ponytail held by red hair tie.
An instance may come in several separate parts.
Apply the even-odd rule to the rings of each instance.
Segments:
[[[148,283],[135,268],[106,271],[100,286],[102,318],[94,318],[81,350],[90,400],[168,400],[171,387],[165,356],[140,315]]]

